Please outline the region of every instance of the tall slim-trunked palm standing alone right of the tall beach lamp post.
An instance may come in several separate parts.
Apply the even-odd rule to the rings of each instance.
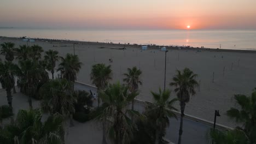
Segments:
[[[177,93],[179,105],[181,106],[181,123],[179,125],[178,144],[181,144],[185,105],[189,102],[190,95],[195,95],[196,93],[195,87],[198,85],[195,80],[196,76],[197,75],[188,68],[185,68],[183,71],[177,70],[177,75],[173,77],[173,82],[170,83],[171,86],[176,87],[174,92]]]

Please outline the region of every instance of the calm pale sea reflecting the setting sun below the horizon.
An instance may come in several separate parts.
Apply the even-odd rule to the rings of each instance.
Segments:
[[[256,50],[256,30],[95,30],[0,28],[0,36],[115,44],[191,46],[211,49]]]

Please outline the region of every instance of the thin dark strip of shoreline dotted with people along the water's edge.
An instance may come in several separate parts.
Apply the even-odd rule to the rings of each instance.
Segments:
[[[52,44],[104,44],[104,45],[112,45],[112,46],[121,46],[121,47],[136,47],[141,48],[140,44],[117,44],[117,43],[103,43],[97,41],[79,41],[79,40],[61,40],[61,39],[44,39],[44,38],[28,38],[34,39],[40,42],[48,42]],[[22,40],[20,37],[4,37],[0,35],[0,40]],[[213,49],[213,48],[201,48],[201,47],[188,47],[188,46],[162,46],[162,45],[147,45],[149,49],[160,49],[159,47],[166,47],[167,50],[197,50],[197,51],[215,51],[215,52],[243,52],[243,53],[256,53],[255,50],[234,50],[234,49]]]

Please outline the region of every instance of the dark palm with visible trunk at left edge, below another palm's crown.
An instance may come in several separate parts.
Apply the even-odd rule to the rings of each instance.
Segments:
[[[0,82],[2,87],[5,89],[7,94],[7,101],[12,112],[13,106],[13,96],[11,95],[11,89],[14,88],[14,76],[18,74],[18,65],[11,62],[5,61],[4,63],[0,62]]]

